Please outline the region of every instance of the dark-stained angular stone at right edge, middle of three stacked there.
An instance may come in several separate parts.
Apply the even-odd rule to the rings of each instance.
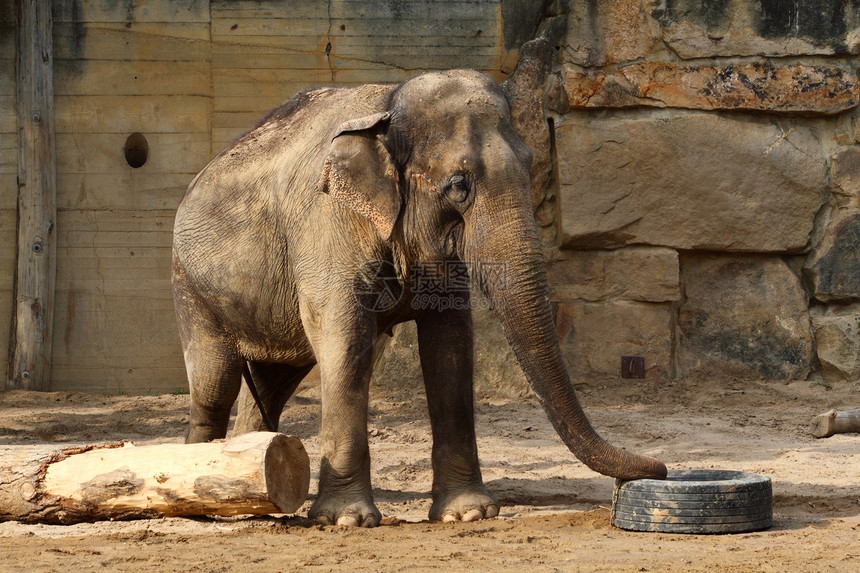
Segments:
[[[860,300],[860,214],[831,223],[804,272],[818,300]]]

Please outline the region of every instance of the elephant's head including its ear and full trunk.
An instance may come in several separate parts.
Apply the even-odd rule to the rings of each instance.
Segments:
[[[340,126],[323,190],[369,219],[407,260],[467,265],[577,458],[620,479],[664,478],[658,460],[604,441],[579,405],[550,307],[530,163],[495,82],[473,71],[431,73],[401,84],[387,109]]]

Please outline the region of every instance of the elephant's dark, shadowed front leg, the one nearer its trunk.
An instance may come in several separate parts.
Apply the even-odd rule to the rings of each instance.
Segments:
[[[468,293],[457,307],[468,308]],[[476,521],[499,513],[481,478],[472,397],[473,334],[469,310],[428,311],[418,348],[433,428],[430,519]]]

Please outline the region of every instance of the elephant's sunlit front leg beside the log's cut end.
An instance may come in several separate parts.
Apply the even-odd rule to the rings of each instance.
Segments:
[[[382,518],[370,486],[367,401],[375,324],[355,318],[314,337],[320,366],[322,424],[319,494],[309,516],[324,524],[375,527]]]

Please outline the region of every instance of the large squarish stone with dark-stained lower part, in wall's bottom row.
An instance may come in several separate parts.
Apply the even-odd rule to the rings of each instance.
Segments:
[[[778,257],[681,260],[678,374],[805,379],[812,334],[800,279]]]

